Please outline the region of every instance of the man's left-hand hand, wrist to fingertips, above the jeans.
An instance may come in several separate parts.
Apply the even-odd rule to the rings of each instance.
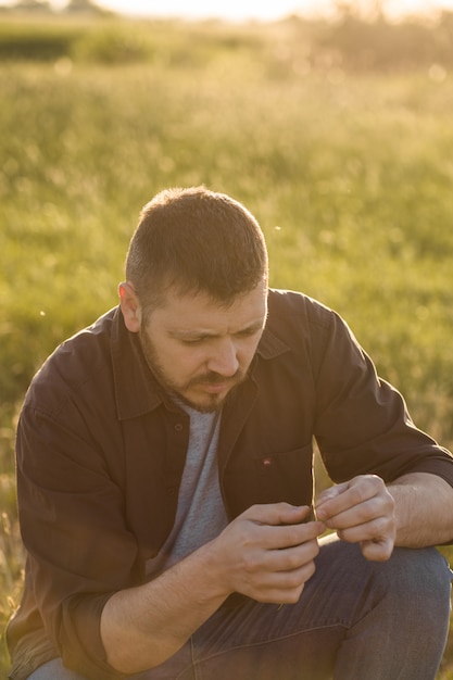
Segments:
[[[304,522],[310,508],[288,503],[253,505],[210,544],[228,592],[259,602],[294,603],[315,570],[325,526]]]

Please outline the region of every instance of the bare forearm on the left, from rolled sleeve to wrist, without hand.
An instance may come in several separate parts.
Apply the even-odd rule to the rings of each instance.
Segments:
[[[203,546],[106,602],[101,637],[113,668],[129,675],[163,663],[219,607],[228,593],[210,575],[209,552]]]

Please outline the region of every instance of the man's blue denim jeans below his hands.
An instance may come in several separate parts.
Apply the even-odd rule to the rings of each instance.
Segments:
[[[452,572],[436,549],[366,561],[330,537],[298,604],[232,595],[160,666],[134,680],[435,680]],[[60,659],[28,680],[85,680]]]

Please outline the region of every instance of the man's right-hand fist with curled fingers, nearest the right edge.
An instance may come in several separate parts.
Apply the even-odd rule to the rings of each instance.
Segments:
[[[394,500],[376,475],[360,475],[319,494],[316,516],[340,539],[360,543],[367,559],[383,562],[397,537]]]

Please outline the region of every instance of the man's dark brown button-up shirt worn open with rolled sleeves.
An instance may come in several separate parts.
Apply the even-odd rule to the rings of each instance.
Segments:
[[[64,342],[35,377],[17,431],[22,605],[9,626],[11,678],[61,656],[92,680],[109,667],[100,616],[141,583],[171,531],[188,416],[151,374],[118,308]],[[228,398],[218,470],[229,518],[254,503],[312,503],[312,442],[336,482],[410,471],[453,486],[453,458],[407,415],[345,323],[293,292],[270,291],[250,375]]]

